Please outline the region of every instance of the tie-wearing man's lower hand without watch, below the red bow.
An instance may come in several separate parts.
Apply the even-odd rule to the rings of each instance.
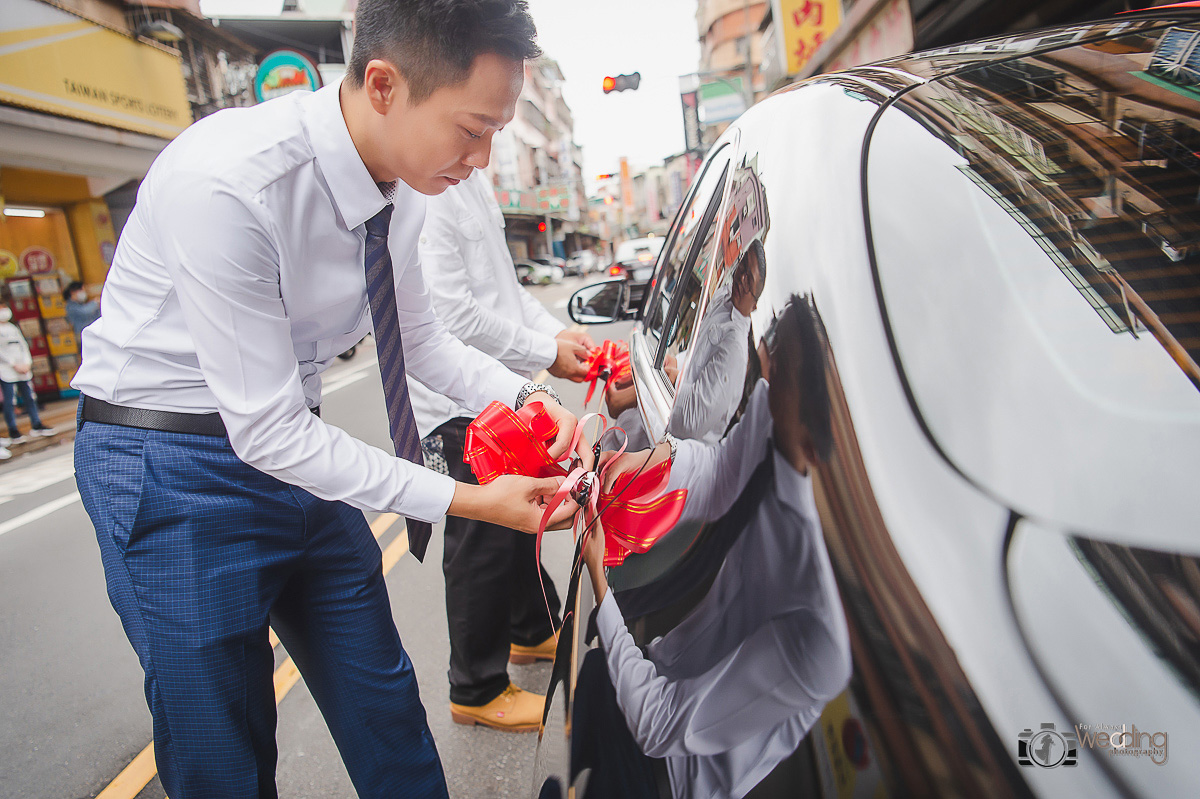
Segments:
[[[553,499],[562,485],[562,477],[538,479],[515,474],[502,474],[486,486],[460,482],[455,485],[446,513],[533,534],[541,524],[546,503]],[[551,516],[546,529],[570,527],[577,510],[578,505],[568,499]]]

